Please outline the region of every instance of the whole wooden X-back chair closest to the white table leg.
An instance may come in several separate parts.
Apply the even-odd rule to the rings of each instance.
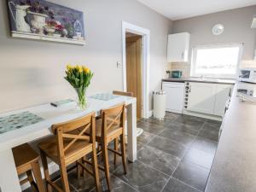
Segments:
[[[108,191],[110,187],[108,150],[122,157],[124,172],[126,174],[125,164],[125,104],[119,104],[113,108],[104,109],[101,111],[102,119],[96,120],[96,142],[101,145],[103,154],[104,167],[100,167],[105,172]],[[88,133],[88,132],[87,132]],[[121,153],[114,148],[108,148],[108,143],[114,141],[119,142],[120,137]],[[114,162],[116,163],[116,162]]]

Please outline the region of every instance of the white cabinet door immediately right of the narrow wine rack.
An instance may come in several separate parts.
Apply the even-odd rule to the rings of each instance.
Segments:
[[[189,83],[188,110],[214,113],[216,84]]]

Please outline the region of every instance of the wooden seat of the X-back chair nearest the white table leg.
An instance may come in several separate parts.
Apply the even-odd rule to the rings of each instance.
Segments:
[[[108,137],[115,136],[115,135],[121,135],[122,134],[122,127],[119,127],[117,125],[112,125],[108,129]],[[90,130],[85,132],[86,135],[90,135]],[[96,120],[96,140],[97,142],[101,142],[102,138],[102,119]]]

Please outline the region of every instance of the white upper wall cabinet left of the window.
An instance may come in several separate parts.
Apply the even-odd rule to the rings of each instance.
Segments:
[[[167,61],[189,61],[189,41],[189,32],[181,32],[177,34],[168,35]]]

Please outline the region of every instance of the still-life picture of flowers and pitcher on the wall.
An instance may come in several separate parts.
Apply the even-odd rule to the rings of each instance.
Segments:
[[[11,36],[85,44],[83,12],[44,0],[8,0]]]

